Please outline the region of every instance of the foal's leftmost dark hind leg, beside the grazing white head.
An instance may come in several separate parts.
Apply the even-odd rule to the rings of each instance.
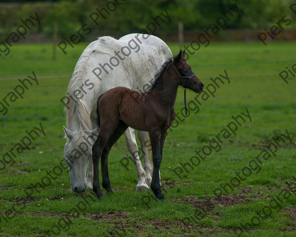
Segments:
[[[99,161],[102,156],[102,150],[103,150],[99,146],[100,138],[101,136],[99,134],[97,140],[95,141],[92,147],[93,175],[94,175],[93,190],[96,193],[98,198],[101,198],[103,196],[103,193],[100,187],[100,180],[99,180]]]

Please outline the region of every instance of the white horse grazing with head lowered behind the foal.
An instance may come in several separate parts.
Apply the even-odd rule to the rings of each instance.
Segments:
[[[164,41],[142,34],[126,35],[119,40],[101,37],[82,52],[68,85],[67,100],[63,100],[67,117],[67,128],[64,127],[67,138],[64,158],[69,166],[74,192],[82,193],[86,188],[92,188],[93,163],[90,158],[92,145],[98,136],[98,96],[116,86],[148,90],[155,75],[162,71],[161,66],[172,57]],[[138,131],[137,135],[143,149],[144,169],[132,128],[126,130],[125,139],[137,169],[136,190],[144,191],[149,189],[152,167],[148,156],[147,132]]]

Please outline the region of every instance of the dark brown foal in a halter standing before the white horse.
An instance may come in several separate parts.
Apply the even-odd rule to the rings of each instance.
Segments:
[[[154,195],[165,200],[161,193],[159,168],[167,129],[175,119],[175,100],[178,86],[198,93],[204,84],[193,74],[184,59],[185,52],[167,63],[150,90],[144,93],[126,87],[115,87],[98,98],[97,112],[100,133],[92,147],[94,164],[93,190],[100,198],[103,196],[99,183],[99,160],[102,164],[103,188],[111,193],[108,174],[108,154],[113,144],[128,126],[148,131],[152,148],[153,174],[151,190]]]

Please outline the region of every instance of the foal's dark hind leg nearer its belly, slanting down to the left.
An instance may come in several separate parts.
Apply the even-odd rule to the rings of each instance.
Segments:
[[[123,121],[120,121],[117,128],[114,130],[103,149],[101,159],[103,178],[102,186],[104,189],[106,189],[107,193],[112,193],[108,171],[108,155],[114,143],[120,138],[120,136],[124,133],[127,127],[128,126]]]

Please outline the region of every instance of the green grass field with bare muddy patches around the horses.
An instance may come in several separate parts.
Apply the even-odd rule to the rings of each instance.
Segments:
[[[92,190],[77,195],[68,171],[55,170],[66,142],[60,99],[86,45],[76,45],[67,55],[58,51],[56,61],[52,45],[43,43],[13,45],[8,56],[1,55],[2,103],[18,79],[34,78],[33,71],[38,85],[28,85],[23,99],[10,101],[0,117],[0,236],[296,235],[296,78],[290,74],[287,84],[278,75],[296,63],[295,42],[211,42],[190,56],[193,72],[206,85],[225,72],[230,83],[217,81],[215,97],[200,95],[198,108],[193,106],[196,94],[187,92],[187,102],[193,102],[186,118],[180,88],[176,112],[181,119],[168,132],[161,164],[167,202],[156,201],[150,190],[135,191],[134,164],[124,168],[119,162],[128,153],[124,138],[109,157],[110,196],[97,200]],[[180,50],[169,46],[175,55]],[[247,111],[251,119],[241,114]],[[229,136],[226,130],[238,115],[245,121],[238,118],[241,126]],[[45,135],[32,133],[29,149],[15,147],[29,136],[26,130],[41,130],[40,123]],[[217,136],[220,149],[213,140]],[[275,142],[276,137],[283,140]],[[15,157],[9,153],[13,147]],[[199,150],[204,159],[197,163],[193,157]],[[44,178],[49,174],[54,178]],[[42,179],[45,188],[36,185]]]

